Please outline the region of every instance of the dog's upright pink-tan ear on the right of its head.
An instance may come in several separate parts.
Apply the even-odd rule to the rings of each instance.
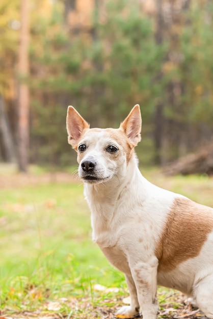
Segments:
[[[139,104],[136,104],[120,125],[120,128],[124,130],[126,136],[134,146],[141,141],[141,124],[141,111]]]

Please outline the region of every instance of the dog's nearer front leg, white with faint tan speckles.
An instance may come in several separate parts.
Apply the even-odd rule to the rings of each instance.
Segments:
[[[154,256],[147,262],[130,263],[143,319],[156,319],[157,265],[158,260]]]

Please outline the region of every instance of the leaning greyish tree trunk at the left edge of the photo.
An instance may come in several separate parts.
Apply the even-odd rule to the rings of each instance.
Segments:
[[[12,139],[12,134],[9,126],[9,121],[5,112],[3,97],[0,95],[0,134],[4,150],[4,158],[8,163],[15,161],[15,149]]]

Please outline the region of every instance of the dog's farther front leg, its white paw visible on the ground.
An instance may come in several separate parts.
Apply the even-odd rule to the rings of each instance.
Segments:
[[[131,276],[131,274],[125,274],[127,287],[129,289],[130,295],[130,306],[121,307],[116,314],[125,314],[128,316],[134,316],[139,313],[140,305],[138,302],[137,289],[135,282]]]

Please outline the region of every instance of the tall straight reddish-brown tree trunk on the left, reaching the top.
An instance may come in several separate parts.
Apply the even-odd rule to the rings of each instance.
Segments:
[[[21,30],[18,56],[18,168],[26,172],[29,149],[29,89],[26,76],[29,72],[29,0],[21,1]]]

